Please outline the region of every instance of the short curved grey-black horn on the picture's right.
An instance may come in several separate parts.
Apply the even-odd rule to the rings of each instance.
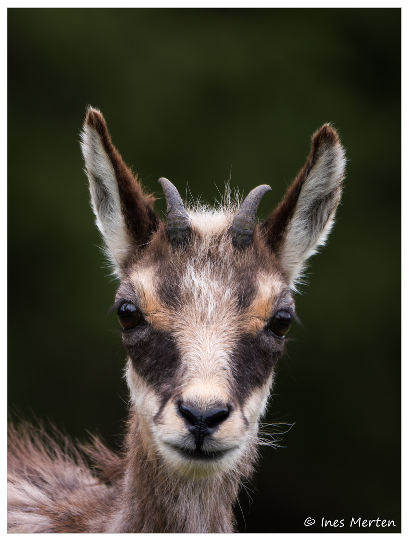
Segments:
[[[257,208],[263,195],[267,192],[271,192],[271,187],[267,186],[267,184],[262,184],[262,186],[251,190],[234,217],[232,225],[233,245],[237,248],[251,245],[253,230],[256,225]]]

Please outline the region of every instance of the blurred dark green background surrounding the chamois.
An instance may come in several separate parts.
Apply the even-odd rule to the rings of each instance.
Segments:
[[[162,197],[269,183],[266,217],[334,122],[343,205],[297,296],[242,532],[400,528],[400,9],[9,9],[9,403],[117,445],[126,417],[115,283],[79,149],[85,108]],[[157,204],[162,215],[165,204]],[[16,312],[17,309],[17,312]],[[393,331],[393,332],[392,332]],[[391,334],[392,332],[392,334]],[[251,503],[250,503],[251,500]],[[307,528],[306,518],[317,524]],[[344,529],[321,519],[344,518]]]

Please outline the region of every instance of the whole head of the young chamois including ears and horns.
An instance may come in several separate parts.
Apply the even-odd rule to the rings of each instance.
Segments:
[[[120,279],[115,307],[128,353],[131,415],[144,452],[180,478],[250,472],[259,420],[295,316],[292,291],[325,243],[345,157],[329,124],[262,225],[259,186],[240,208],[186,209],[160,179],[167,223],[90,108],[83,154],[92,205]]]

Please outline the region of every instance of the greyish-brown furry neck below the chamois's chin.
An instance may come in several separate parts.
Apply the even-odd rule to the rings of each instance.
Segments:
[[[233,504],[242,475],[191,479],[166,470],[143,445],[137,424],[128,433],[122,498],[110,531],[117,533],[232,533]]]

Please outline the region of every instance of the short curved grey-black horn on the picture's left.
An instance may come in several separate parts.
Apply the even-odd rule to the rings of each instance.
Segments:
[[[169,180],[159,179],[159,184],[165,193],[167,205],[167,236],[175,246],[186,245],[190,238],[190,223],[182,197]]]

